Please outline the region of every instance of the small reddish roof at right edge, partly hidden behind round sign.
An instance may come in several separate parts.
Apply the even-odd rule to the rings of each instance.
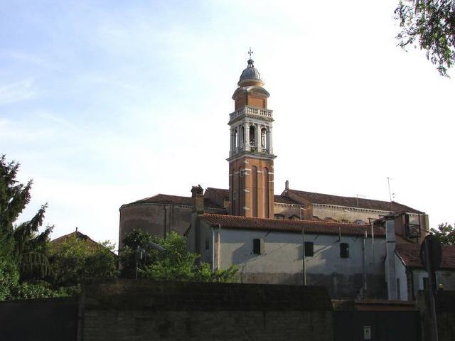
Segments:
[[[420,262],[420,244],[397,244],[395,250],[406,267],[423,269]],[[441,269],[455,269],[455,246],[442,247]]]

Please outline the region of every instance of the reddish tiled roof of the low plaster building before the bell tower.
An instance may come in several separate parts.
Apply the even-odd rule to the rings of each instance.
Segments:
[[[338,234],[350,236],[363,236],[365,231],[370,234],[368,224],[343,224],[337,222],[319,222],[316,220],[277,220],[265,218],[238,217],[235,215],[213,215],[205,213],[200,215],[201,220],[210,226],[230,229],[259,229],[277,232],[299,232],[305,229],[306,233]],[[375,237],[384,237],[382,227],[374,227]]]

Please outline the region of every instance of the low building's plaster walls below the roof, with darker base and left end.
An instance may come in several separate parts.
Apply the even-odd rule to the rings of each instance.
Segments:
[[[215,257],[210,227],[200,224],[200,240],[209,248],[201,250],[201,260],[212,264],[217,259],[218,229],[215,229]],[[264,240],[264,253],[253,254],[253,239]],[[363,286],[363,238],[341,236],[342,243],[349,244],[349,258],[340,256],[338,235],[306,234],[306,242],[314,243],[314,256],[306,257],[308,285],[328,288],[331,297],[354,297]],[[204,242],[202,242],[204,241]],[[367,295],[385,297],[385,239],[376,238],[374,257],[372,240],[365,242]],[[303,283],[302,236],[291,232],[267,232],[245,229],[221,229],[220,268],[231,264],[239,266],[243,283]],[[215,264],[216,267],[217,264]]]

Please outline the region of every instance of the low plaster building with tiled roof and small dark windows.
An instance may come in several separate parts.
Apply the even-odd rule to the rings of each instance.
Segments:
[[[213,269],[236,264],[242,283],[306,282],[331,297],[387,298],[382,227],[205,213],[193,216],[186,237]]]

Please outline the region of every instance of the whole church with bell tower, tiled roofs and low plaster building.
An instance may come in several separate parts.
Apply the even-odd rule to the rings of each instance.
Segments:
[[[188,197],[157,194],[122,205],[120,250],[133,229],[157,236],[176,231],[213,269],[236,264],[245,283],[323,285],[332,297],[395,297],[395,273],[386,274],[386,225],[393,242],[419,244],[427,215],[398,202],[294,190],[288,181],[275,195],[269,96],[250,58],[232,94],[229,187],[197,185]]]

